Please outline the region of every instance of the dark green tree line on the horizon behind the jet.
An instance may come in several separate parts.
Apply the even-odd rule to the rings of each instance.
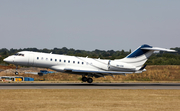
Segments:
[[[147,65],[180,65],[180,48],[171,48],[176,50],[176,53],[168,53],[168,52],[159,52],[154,53],[149,60],[146,62]],[[4,64],[3,59],[9,55],[13,55],[19,51],[35,51],[35,52],[45,52],[45,53],[53,53],[53,54],[63,54],[63,55],[71,55],[71,56],[81,56],[81,57],[89,57],[89,58],[100,58],[100,59],[121,59],[126,57],[131,53],[129,51],[114,51],[114,50],[94,50],[94,51],[85,51],[85,50],[75,50],[73,48],[54,48],[54,49],[37,49],[37,48],[24,48],[24,49],[0,49],[0,63]]]

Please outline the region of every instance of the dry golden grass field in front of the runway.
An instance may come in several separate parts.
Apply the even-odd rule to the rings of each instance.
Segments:
[[[178,111],[180,90],[0,90],[1,111]]]

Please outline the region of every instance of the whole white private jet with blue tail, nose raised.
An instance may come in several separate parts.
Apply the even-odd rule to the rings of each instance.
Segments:
[[[92,77],[105,77],[142,73],[146,71],[143,64],[154,51],[176,52],[175,50],[142,45],[123,59],[103,60],[88,57],[58,55],[21,51],[4,59],[5,62],[23,66],[49,68],[59,72],[82,75],[82,81],[92,83]],[[17,75],[18,72],[16,71]]]

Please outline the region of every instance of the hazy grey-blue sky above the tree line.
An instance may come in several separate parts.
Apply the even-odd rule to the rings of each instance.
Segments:
[[[180,0],[0,0],[0,49],[180,47]]]

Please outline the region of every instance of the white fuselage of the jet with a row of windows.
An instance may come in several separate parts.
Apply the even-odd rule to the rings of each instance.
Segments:
[[[64,72],[66,69],[90,70],[90,71],[133,71],[135,67],[114,60],[93,59],[58,54],[22,51],[9,56],[4,61],[24,66],[50,68]]]

